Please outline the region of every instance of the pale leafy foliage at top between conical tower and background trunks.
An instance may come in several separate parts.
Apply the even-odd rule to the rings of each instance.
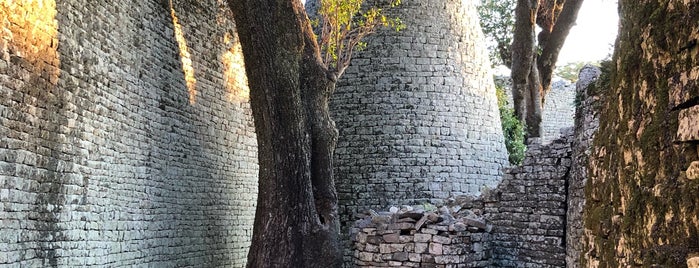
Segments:
[[[514,0],[480,0],[478,14],[493,66],[510,66],[515,24]]]

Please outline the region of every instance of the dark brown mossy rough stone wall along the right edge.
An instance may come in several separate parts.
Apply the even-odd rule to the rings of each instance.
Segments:
[[[619,11],[585,191],[582,264],[696,267],[699,2],[621,0]]]

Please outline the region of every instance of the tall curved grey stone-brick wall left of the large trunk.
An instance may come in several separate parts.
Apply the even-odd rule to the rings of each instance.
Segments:
[[[243,266],[255,136],[217,1],[0,2],[0,266]]]

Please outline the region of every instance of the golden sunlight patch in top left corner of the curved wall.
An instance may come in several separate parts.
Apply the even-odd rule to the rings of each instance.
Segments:
[[[18,56],[52,84],[60,69],[54,0],[0,0],[0,59]]]

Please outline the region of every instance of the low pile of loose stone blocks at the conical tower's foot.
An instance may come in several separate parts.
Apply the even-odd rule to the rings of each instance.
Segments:
[[[369,211],[352,228],[357,267],[488,267],[492,226],[468,197]]]

